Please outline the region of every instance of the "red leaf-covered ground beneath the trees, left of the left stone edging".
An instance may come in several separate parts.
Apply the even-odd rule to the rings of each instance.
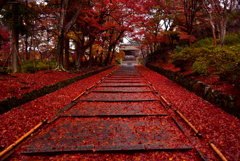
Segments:
[[[95,68],[99,70],[102,67]],[[57,83],[66,79],[70,79],[82,74],[90,72],[79,72],[79,73],[67,73],[63,71],[55,70],[43,70],[38,71],[33,74],[28,73],[15,73],[14,76],[11,75],[1,75],[0,76],[0,100],[5,97],[15,96],[21,98],[23,93],[33,91],[35,89],[40,89],[44,86]]]

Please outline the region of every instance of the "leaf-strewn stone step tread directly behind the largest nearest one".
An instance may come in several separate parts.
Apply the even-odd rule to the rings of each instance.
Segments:
[[[68,111],[68,116],[141,116],[168,115],[159,101],[152,102],[79,102]]]

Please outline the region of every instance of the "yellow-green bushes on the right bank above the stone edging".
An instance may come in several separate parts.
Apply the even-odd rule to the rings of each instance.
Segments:
[[[221,78],[239,85],[240,72],[240,43],[233,45],[233,41],[239,41],[238,35],[230,35],[223,48],[213,48],[212,39],[205,38],[186,47],[181,52],[172,54],[171,63],[185,68],[192,66],[194,72],[200,75],[218,74]]]

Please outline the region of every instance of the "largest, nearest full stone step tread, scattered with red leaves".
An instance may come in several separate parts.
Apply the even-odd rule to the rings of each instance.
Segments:
[[[104,152],[189,150],[192,146],[172,119],[72,118],[56,120],[28,140],[23,154],[49,152]]]

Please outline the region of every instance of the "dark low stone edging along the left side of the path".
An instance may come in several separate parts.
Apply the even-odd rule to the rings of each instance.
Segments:
[[[54,91],[57,91],[60,88],[64,88],[64,87],[66,87],[66,86],[68,86],[72,83],[75,83],[79,80],[82,80],[84,78],[90,77],[90,76],[95,75],[95,74],[98,74],[102,71],[105,71],[109,68],[112,68],[113,66],[114,65],[108,66],[108,67],[100,69],[100,70],[96,70],[96,71],[93,71],[93,72],[90,72],[90,73],[87,73],[87,74],[82,74],[82,75],[79,75],[79,76],[74,77],[74,78],[66,79],[66,80],[63,80],[63,81],[60,81],[60,82],[57,82],[57,83],[54,83],[54,84],[51,84],[51,85],[48,85],[48,86],[44,86],[40,89],[36,89],[36,90],[31,91],[31,92],[24,93],[22,95],[22,97],[19,98],[19,99],[15,96],[8,97],[8,98],[0,101],[0,114],[3,114],[7,111],[10,111],[14,107],[18,107],[20,105],[23,105],[23,104],[29,102],[29,101],[37,99],[38,97],[44,96],[44,95],[52,93]]]

